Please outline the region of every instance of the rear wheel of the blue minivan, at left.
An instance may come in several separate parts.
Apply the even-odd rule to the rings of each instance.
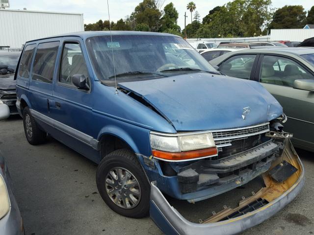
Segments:
[[[26,139],[30,144],[37,145],[46,141],[47,134],[39,129],[28,107],[25,107],[23,110],[23,124]],[[31,128],[31,132],[29,132],[29,127]]]

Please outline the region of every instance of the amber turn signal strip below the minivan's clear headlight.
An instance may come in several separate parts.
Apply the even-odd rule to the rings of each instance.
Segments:
[[[198,149],[192,151],[185,152],[164,152],[159,150],[152,150],[153,156],[157,159],[165,160],[165,161],[187,161],[193,160],[197,158],[203,157],[211,157],[216,156],[218,154],[218,150],[216,147]]]

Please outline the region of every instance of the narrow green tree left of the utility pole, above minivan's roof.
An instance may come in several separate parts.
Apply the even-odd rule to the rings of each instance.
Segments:
[[[177,24],[179,13],[174,7],[173,3],[170,2],[163,8],[164,15],[161,18],[161,32],[168,32],[170,29],[180,32],[180,26]],[[171,31],[170,30],[170,31]]]

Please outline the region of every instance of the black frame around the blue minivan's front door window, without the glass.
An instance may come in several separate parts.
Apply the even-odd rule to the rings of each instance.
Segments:
[[[80,47],[80,50],[81,50],[83,58],[84,58],[84,62],[85,62],[86,67],[87,67],[87,73],[88,73],[87,80],[89,80],[89,86],[90,86],[89,90],[78,89],[74,85],[62,83],[62,82],[59,81],[60,72],[61,72],[60,70],[61,70],[61,63],[62,63],[63,48],[64,48],[66,43],[77,43],[78,46]],[[57,80],[56,80],[56,85],[60,86],[60,87],[66,87],[66,88],[73,89],[73,90],[76,90],[76,91],[84,92],[84,93],[90,93],[91,90],[92,90],[92,82],[91,82],[90,73],[88,71],[86,58],[85,58],[85,55],[84,55],[84,52],[83,52],[83,49],[82,49],[82,46],[81,46],[81,42],[79,40],[77,40],[77,39],[64,39],[63,41],[60,42],[60,45],[61,45],[61,52],[60,52],[60,56],[58,58],[58,61],[56,62],[57,63],[57,76],[56,76]]]

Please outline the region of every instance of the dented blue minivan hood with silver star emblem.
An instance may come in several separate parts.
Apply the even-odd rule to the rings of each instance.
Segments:
[[[193,73],[119,86],[145,99],[177,131],[250,126],[283,113],[278,101],[258,82],[223,75]],[[246,107],[250,108],[243,119]]]

